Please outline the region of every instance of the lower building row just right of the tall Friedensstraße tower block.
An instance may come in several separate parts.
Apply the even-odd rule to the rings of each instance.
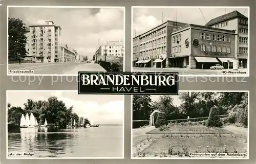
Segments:
[[[60,62],[75,62],[76,52],[68,48],[68,45],[60,45],[59,53]]]

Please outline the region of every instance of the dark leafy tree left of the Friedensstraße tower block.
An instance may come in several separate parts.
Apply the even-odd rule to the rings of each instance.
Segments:
[[[27,28],[20,19],[8,18],[8,59],[18,61],[24,59],[28,52],[26,50]]]

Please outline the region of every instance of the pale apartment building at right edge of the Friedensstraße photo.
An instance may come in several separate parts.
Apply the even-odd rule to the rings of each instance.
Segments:
[[[123,41],[106,41],[104,44],[99,46],[99,56],[119,56],[123,57]]]

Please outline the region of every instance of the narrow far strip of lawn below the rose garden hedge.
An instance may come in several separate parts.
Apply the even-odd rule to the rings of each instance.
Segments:
[[[168,130],[159,130],[159,128],[147,132],[146,134],[231,134],[233,132],[223,128],[208,128],[205,126],[180,126],[170,127]]]

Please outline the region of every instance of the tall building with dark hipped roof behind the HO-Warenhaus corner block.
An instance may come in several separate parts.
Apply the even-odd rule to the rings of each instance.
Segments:
[[[248,65],[248,17],[238,11],[233,11],[214,19],[205,26],[236,31],[234,54],[239,61],[239,66],[247,68]]]

